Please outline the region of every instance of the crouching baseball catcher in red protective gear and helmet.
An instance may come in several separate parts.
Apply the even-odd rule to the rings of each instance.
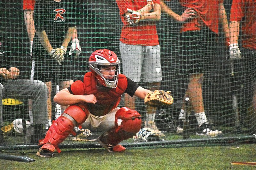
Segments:
[[[54,96],[54,102],[69,107],[52,123],[44,139],[39,140],[41,147],[36,155],[53,157],[55,150],[60,153],[58,145],[72,133],[75,126],[80,125],[83,129],[102,131],[96,141],[108,152],[122,152],[125,148],[119,143],[136,136],[140,131],[141,116],[128,107],[117,107],[121,95],[127,93],[140,99],[148,96],[149,102],[146,103],[152,105],[154,100],[150,99],[149,94],[162,95],[163,99],[158,99],[158,105],[164,100],[166,103],[173,101],[169,92],[152,93],[120,74],[120,61],[113,51],[94,51],[89,57],[89,67],[91,71],[85,73],[81,80]],[[85,134],[90,135],[87,132]]]

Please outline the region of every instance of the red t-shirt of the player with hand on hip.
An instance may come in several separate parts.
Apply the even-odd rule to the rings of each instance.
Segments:
[[[180,31],[196,31],[200,27],[207,26],[212,32],[219,33],[219,4],[223,0],[180,0],[181,6],[192,8],[196,11],[196,17],[185,22]]]

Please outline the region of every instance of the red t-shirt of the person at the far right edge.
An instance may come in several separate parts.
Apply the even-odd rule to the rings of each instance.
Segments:
[[[256,1],[233,0],[230,21],[241,22],[244,48],[256,49]]]

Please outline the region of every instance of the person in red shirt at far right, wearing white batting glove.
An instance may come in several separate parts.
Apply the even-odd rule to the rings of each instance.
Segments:
[[[252,105],[249,108],[250,133],[255,130],[255,111],[256,111],[256,2],[254,0],[233,0],[230,11],[230,47],[229,57],[232,62],[238,61],[243,56],[244,68],[246,69],[246,80],[252,90]],[[242,44],[239,45],[238,37],[241,27]],[[252,121],[252,122],[251,122]]]

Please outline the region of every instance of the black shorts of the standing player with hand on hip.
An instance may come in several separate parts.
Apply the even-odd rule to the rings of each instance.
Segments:
[[[180,61],[187,74],[204,73],[216,50],[216,34],[208,28],[181,33]]]

